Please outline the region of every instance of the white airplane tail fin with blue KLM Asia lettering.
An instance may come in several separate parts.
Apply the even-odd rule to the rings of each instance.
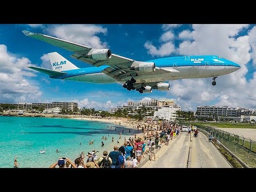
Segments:
[[[57,52],[48,53],[52,69],[54,71],[66,71],[66,70],[72,70],[72,69],[79,69],[76,67],[73,63],[68,61],[66,58],[62,57]]]

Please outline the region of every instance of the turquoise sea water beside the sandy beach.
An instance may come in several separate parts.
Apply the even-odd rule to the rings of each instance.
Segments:
[[[122,139],[118,139],[122,130]],[[134,133],[134,130],[131,130],[131,133]],[[102,136],[108,139],[102,140]],[[111,142],[112,137],[114,142]],[[20,168],[49,167],[59,157],[68,157],[74,162],[82,151],[87,154],[93,149],[100,151],[97,153],[99,158],[103,150],[109,153],[114,145],[121,146],[124,137],[131,137],[129,129],[110,123],[63,118],[0,116],[0,168],[12,168],[16,155]],[[92,139],[94,143],[89,145]],[[117,143],[117,140],[120,143]],[[104,147],[101,147],[101,141],[105,143]],[[79,145],[80,142],[82,145]],[[59,153],[56,153],[56,149]],[[45,150],[45,154],[40,154],[40,150]]]

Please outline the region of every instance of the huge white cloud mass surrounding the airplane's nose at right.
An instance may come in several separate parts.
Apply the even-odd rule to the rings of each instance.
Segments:
[[[230,107],[256,107],[256,75],[246,82],[246,63],[251,60],[255,28],[249,35],[238,36],[249,25],[193,25],[193,31],[183,35],[192,41],[183,41],[177,50],[180,55],[220,55],[241,65],[235,73],[219,76],[217,85],[211,78],[182,79],[170,82],[170,93],[177,97],[182,110],[196,110],[198,105],[224,105]],[[255,41],[256,42],[256,41]],[[250,46],[251,45],[251,46]]]

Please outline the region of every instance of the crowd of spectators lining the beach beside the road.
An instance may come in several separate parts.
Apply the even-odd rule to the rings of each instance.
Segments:
[[[169,145],[170,140],[178,137],[182,125],[170,122],[147,123],[147,126],[138,124],[138,126],[144,127],[143,139],[141,137],[137,138],[137,135],[134,134],[133,137],[125,139],[122,146],[115,145],[114,150],[110,151],[110,153],[107,150],[103,151],[100,158],[97,157],[99,151],[93,150],[88,152],[87,155],[83,151],[75,159],[74,163],[67,157],[61,157],[50,167],[59,165],[59,167],[73,168],[137,168],[138,164],[141,163],[141,159],[145,156],[149,156],[150,161],[156,161],[157,149],[161,148],[161,145]],[[195,132],[194,137],[196,137],[197,133]],[[119,133],[119,138],[120,135],[121,133]],[[112,141],[114,141],[113,138]]]

